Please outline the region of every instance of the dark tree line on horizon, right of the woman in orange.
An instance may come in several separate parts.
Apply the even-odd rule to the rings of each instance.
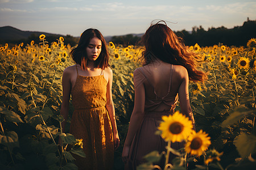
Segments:
[[[183,39],[185,45],[191,46],[196,43],[200,46],[212,46],[214,44],[224,44],[228,46],[246,46],[248,40],[256,37],[256,20],[250,20],[243,23],[242,26],[237,26],[231,29],[226,27],[208,28],[206,31],[201,25],[193,27],[192,32],[185,29],[175,32],[178,37]],[[112,42],[114,44],[127,45],[141,45],[141,37],[133,35],[113,36]]]

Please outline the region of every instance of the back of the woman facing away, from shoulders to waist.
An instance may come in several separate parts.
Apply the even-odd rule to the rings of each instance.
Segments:
[[[140,81],[145,89],[145,111],[170,111],[177,103],[177,94],[184,80],[185,68],[162,61],[152,62],[135,72],[136,81]],[[136,82],[136,84],[139,84]],[[185,91],[184,91],[185,92]]]

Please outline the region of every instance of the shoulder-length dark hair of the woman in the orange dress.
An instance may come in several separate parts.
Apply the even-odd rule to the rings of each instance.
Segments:
[[[88,61],[86,47],[89,45],[89,42],[93,39],[93,37],[97,37],[101,40],[101,53],[95,61],[95,66],[104,70],[105,67],[110,66],[109,53],[106,49],[106,41],[102,36],[101,32],[98,31],[98,29],[86,29],[81,34],[79,44],[77,45],[77,47],[72,49],[69,54],[72,56],[73,60],[81,66],[81,69],[85,70]]]

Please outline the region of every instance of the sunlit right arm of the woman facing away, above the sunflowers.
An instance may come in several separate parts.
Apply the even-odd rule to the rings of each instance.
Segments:
[[[193,117],[190,101],[189,101],[189,91],[188,91],[188,71],[183,67],[181,71],[181,84],[179,87],[179,100],[180,100],[180,109],[181,113],[189,118],[195,126],[195,120]]]

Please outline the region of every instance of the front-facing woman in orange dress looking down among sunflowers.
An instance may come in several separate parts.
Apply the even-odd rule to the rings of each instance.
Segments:
[[[61,114],[68,118],[69,99],[75,111],[69,133],[82,139],[86,158],[73,155],[79,169],[112,169],[119,146],[112,100],[113,73],[106,42],[97,29],[86,29],[71,51],[75,65],[63,71]],[[62,124],[65,129],[65,121]]]

